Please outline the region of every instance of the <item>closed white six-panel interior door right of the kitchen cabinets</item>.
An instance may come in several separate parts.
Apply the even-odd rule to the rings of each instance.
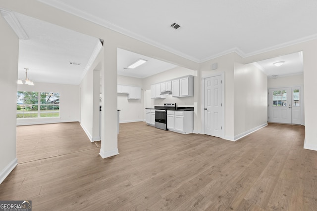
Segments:
[[[204,95],[205,134],[222,137],[222,76],[205,79]]]

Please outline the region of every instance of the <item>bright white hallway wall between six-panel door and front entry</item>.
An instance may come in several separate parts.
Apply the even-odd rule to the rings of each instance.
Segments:
[[[234,140],[267,125],[267,76],[252,64],[234,64]]]

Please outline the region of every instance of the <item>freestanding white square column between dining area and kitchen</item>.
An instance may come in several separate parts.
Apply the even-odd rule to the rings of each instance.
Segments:
[[[102,76],[102,123],[100,156],[119,154],[117,136],[117,48],[104,42]]]

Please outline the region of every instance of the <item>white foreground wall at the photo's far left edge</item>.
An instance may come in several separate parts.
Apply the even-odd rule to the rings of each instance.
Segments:
[[[19,39],[0,15],[0,183],[17,165],[16,91]]]

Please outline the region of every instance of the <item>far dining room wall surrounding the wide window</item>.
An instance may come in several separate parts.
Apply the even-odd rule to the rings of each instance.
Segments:
[[[34,86],[18,84],[18,91],[59,92],[59,117],[39,119],[17,119],[16,125],[78,122],[80,103],[79,85],[34,82]],[[15,94],[16,95],[16,94]]]

